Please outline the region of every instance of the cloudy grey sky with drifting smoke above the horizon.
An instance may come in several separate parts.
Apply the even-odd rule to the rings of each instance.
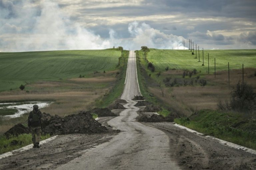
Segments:
[[[0,0],[0,52],[184,50],[190,40],[256,49],[255,9],[256,0]]]

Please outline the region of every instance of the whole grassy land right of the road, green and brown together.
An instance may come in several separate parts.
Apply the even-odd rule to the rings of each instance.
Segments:
[[[204,54],[204,59],[206,56],[208,58],[208,53],[210,56],[210,74],[208,61],[205,60],[205,66],[202,66],[202,62],[198,62],[198,53],[195,59],[195,55],[189,50],[150,50],[146,55],[142,50],[136,52],[138,78],[145,99],[166,109],[159,114],[166,116],[166,113],[176,112],[182,117],[175,119],[180,125],[242,146],[256,148],[255,112],[217,111],[217,103],[230,100],[233,87],[242,81],[242,63],[245,67],[244,81],[256,91],[256,50],[204,51],[207,53]],[[216,77],[213,74],[214,57]],[[154,72],[147,68],[148,62],[153,63]],[[230,62],[231,69],[230,86],[227,62]],[[184,76],[184,69],[196,69],[197,73],[191,77]],[[206,80],[205,86],[198,83],[201,79]],[[173,82],[177,83],[170,85]]]

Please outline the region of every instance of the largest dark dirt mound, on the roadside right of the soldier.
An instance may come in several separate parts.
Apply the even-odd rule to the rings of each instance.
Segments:
[[[105,126],[97,122],[90,113],[80,112],[64,118],[58,115],[50,116],[42,113],[42,133],[50,135],[73,134],[73,133],[102,133],[106,132]],[[47,119],[47,120],[46,120]]]

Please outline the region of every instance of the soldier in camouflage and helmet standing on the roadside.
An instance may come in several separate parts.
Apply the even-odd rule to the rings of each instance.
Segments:
[[[39,148],[39,142],[41,137],[41,117],[42,113],[39,110],[38,105],[34,104],[33,111],[29,113],[29,117],[27,118],[27,126],[31,131],[34,148]]]

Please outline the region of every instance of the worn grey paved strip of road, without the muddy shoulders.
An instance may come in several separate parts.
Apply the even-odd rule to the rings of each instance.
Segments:
[[[110,142],[88,150],[59,170],[79,169],[179,169],[169,154],[169,137],[161,130],[135,121],[139,110],[132,101],[140,94],[137,84],[135,53],[130,51],[125,89],[121,99],[126,110],[108,124],[122,132]]]

